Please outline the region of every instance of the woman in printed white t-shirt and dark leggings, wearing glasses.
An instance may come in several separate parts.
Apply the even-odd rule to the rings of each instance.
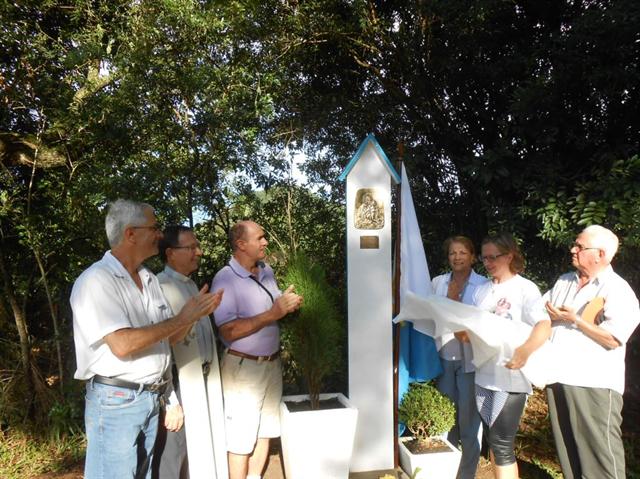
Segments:
[[[510,360],[483,364],[476,370],[475,377],[476,402],[488,430],[494,476],[517,479],[515,437],[527,394],[533,392],[531,383],[519,369],[549,338],[551,321],[544,311],[538,287],[518,274],[524,270],[524,258],[510,234],[485,238],[480,259],[491,281],[476,289],[474,304],[498,316],[532,326],[529,338],[515,348]]]

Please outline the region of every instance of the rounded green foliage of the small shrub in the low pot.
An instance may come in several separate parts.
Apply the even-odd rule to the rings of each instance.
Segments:
[[[398,407],[398,417],[416,439],[426,441],[453,427],[456,408],[432,384],[411,383]]]

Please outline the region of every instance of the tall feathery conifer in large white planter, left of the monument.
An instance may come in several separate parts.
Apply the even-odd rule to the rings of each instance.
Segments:
[[[309,394],[285,396],[280,405],[282,455],[287,479],[347,478],[358,412],[342,394],[322,394],[340,367],[344,331],[322,267],[303,254],[287,266],[283,284],[304,297],[283,324],[288,359]]]

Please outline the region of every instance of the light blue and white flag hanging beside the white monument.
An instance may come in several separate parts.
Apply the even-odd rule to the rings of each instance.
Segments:
[[[431,276],[424,253],[420,226],[413,206],[407,171],[402,165],[402,211],[400,214],[400,304],[408,292],[426,298],[431,290]],[[398,402],[413,381],[429,381],[442,373],[440,357],[433,338],[413,329],[409,322],[400,324],[398,360]],[[399,425],[400,433],[404,430]]]

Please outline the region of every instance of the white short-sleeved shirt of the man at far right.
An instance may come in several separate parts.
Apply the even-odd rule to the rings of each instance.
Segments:
[[[557,382],[571,386],[607,388],[624,394],[626,342],[640,323],[638,299],[624,279],[609,266],[578,290],[577,273],[567,273],[545,295],[545,301],[566,305],[578,314],[596,297],[604,298],[600,327],[621,346],[606,349],[582,331],[562,322],[552,324],[551,342],[557,351]]]

